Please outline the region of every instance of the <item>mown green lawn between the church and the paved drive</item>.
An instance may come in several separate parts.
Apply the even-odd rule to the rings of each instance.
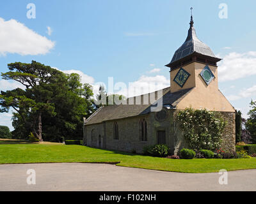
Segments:
[[[114,150],[94,149],[58,143],[0,143],[0,164],[10,163],[118,163],[118,166],[186,173],[216,172],[221,169],[256,168],[252,159],[167,159]]]

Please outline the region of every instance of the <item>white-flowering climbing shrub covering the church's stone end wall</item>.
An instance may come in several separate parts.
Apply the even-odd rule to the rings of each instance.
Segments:
[[[191,149],[220,148],[221,134],[225,128],[225,120],[220,113],[186,108],[177,113],[177,120]]]

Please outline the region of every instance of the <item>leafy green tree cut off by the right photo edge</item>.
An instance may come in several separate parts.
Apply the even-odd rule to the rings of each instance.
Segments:
[[[252,143],[256,143],[256,101],[251,101],[251,110],[248,112],[248,119],[246,121],[246,129],[252,137]]]

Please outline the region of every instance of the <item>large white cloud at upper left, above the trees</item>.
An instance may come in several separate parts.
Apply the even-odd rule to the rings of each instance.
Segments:
[[[47,54],[55,43],[17,20],[0,18],[0,45],[0,55],[38,55]]]

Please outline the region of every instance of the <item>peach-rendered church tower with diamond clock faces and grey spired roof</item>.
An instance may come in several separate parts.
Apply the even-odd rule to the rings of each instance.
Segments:
[[[217,62],[221,61],[211,48],[196,36],[192,8],[188,36],[176,50],[170,68],[170,92],[193,89],[182,99],[179,108],[207,108],[220,112],[234,112],[234,107],[221,94],[218,88]],[[178,107],[177,107],[178,108]]]

